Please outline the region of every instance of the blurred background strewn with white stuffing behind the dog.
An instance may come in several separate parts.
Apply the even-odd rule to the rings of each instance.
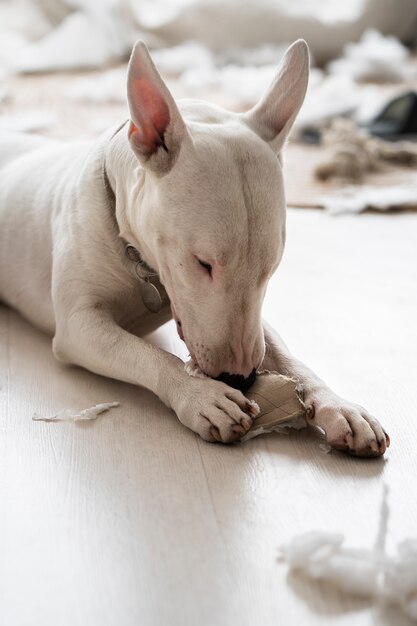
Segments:
[[[289,206],[415,208],[416,0],[0,0],[0,127],[93,137],[123,121],[138,38],[175,97],[245,110],[299,37],[312,72]]]

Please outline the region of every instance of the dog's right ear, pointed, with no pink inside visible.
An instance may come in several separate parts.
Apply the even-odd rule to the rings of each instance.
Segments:
[[[246,124],[276,152],[282,149],[303,104],[308,72],[308,46],[299,39],[286,51],[269,89],[242,115]]]

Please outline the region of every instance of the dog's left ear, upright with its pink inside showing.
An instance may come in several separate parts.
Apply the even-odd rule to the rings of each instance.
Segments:
[[[144,167],[157,174],[173,166],[187,129],[146,45],[137,41],[129,61],[129,141]]]

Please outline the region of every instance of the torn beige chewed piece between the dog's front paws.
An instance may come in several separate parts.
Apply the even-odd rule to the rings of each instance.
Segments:
[[[306,427],[306,409],[298,380],[265,370],[256,376],[255,383],[245,395],[258,404],[260,412],[241,441],[272,431]]]

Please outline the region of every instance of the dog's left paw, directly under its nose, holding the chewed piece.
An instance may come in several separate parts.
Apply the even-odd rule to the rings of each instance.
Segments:
[[[175,411],[180,422],[205,441],[233,443],[251,428],[259,407],[222,382],[190,377]]]

